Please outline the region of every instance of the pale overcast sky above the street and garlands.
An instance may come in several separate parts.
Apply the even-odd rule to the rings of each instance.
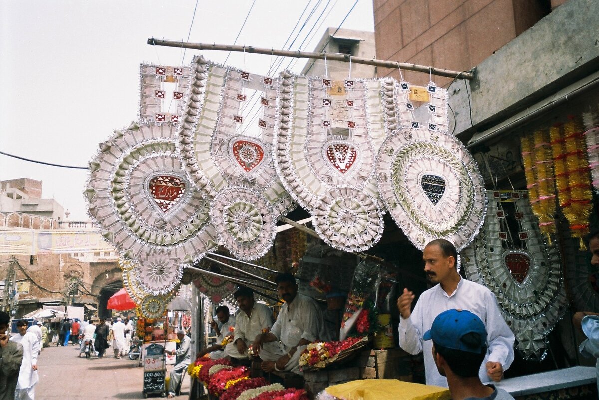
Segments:
[[[201,53],[265,74],[276,61],[149,46],[149,38],[234,44],[239,35],[240,46],[283,49],[291,34],[291,50],[313,51],[346,16],[341,28],[374,31],[372,8],[372,0],[0,0],[0,151],[87,166],[99,143],[137,120],[140,63],[186,65]],[[307,60],[286,59],[273,75],[290,62],[300,72]],[[22,177],[43,181],[42,196],[62,204],[69,220],[88,219],[87,171],[0,154],[0,180]]]

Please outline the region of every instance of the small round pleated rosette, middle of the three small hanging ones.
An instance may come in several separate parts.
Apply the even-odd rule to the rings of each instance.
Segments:
[[[212,201],[210,217],[224,244],[243,260],[263,256],[273,246],[276,221],[267,199],[248,187],[229,187]]]

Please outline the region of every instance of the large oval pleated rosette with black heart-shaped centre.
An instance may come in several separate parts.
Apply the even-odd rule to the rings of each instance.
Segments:
[[[459,251],[473,240],[485,215],[484,182],[455,137],[396,131],[383,143],[377,169],[387,210],[418,249],[445,238]]]

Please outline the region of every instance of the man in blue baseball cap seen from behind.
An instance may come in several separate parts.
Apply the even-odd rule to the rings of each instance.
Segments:
[[[453,400],[507,400],[512,395],[479,378],[479,366],[485,359],[485,324],[467,310],[447,310],[439,314],[424,340],[432,340],[432,357],[437,371],[447,378]]]

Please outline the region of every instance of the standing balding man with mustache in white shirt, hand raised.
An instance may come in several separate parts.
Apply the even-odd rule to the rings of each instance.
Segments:
[[[397,300],[400,310],[400,347],[410,354],[424,351],[426,384],[447,387],[447,379],[439,374],[432,358],[431,341],[423,341],[424,332],[431,329],[435,317],[452,308],[469,310],[485,323],[489,347],[479,370],[480,380],[500,381],[514,359],[514,334],[501,316],[497,299],[489,289],[462,279],[456,268],[458,253],[450,241],[435,239],[424,248],[424,272],[432,283],[431,289],[420,295],[413,311],[415,298],[407,288]]]

